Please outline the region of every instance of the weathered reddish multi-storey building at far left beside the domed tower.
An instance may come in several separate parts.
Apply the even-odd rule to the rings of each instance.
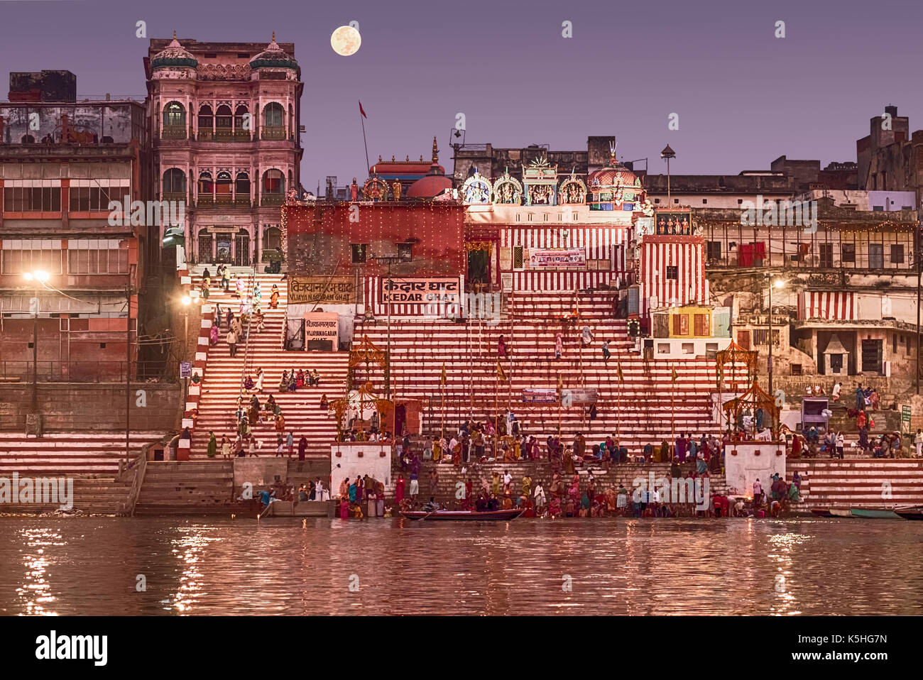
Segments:
[[[30,379],[35,355],[40,380],[124,379],[135,372],[138,293],[160,253],[146,220],[110,206],[150,198],[144,103],[76,101],[76,78],[60,71],[11,74],[10,84],[0,102],[0,373]]]

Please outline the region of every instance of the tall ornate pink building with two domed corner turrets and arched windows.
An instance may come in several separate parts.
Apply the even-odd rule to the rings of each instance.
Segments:
[[[300,189],[294,44],[151,40],[145,60],[157,194],[186,201],[186,258],[282,254],[280,208]]]

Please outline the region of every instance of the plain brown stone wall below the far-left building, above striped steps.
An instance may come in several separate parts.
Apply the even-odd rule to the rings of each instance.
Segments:
[[[46,431],[120,430],[125,428],[126,386],[121,383],[43,383],[39,411]],[[180,386],[135,383],[131,386],[131,429],[169,432],[179,426]],[[0,387],[0,430],[25,430],[32,387]]]

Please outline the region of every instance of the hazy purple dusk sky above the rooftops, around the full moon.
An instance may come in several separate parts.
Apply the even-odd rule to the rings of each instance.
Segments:
[[[261,12],[262,10],[262,12]],[[347,4],[273,0],[0,0],[6,73],[67,68],[79,94],[143,94],[148,42],[135,37],[294,42],[306,83],[302,184],[364,175],[368,153],[429,157],[465,113],[468,142],[585,149],[615,134],[623,160],[677,151],[674,173],[738,173],[789,158],[851,161],[869,118],[893,103],[923,126],[917,87],[923,4],[877,0],[443,0]],[[785,39],[773,37],[785,20]],[[359,22],[342,57],[330,33]],[[561,22],[573,37],[561,37]],[[669,113],[679,130],[667,130]]]

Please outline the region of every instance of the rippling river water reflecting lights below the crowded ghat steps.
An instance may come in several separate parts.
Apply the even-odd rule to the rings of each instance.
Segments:
[[[873,519],[0,518],[0,614],[923,614],[921,549]]]

